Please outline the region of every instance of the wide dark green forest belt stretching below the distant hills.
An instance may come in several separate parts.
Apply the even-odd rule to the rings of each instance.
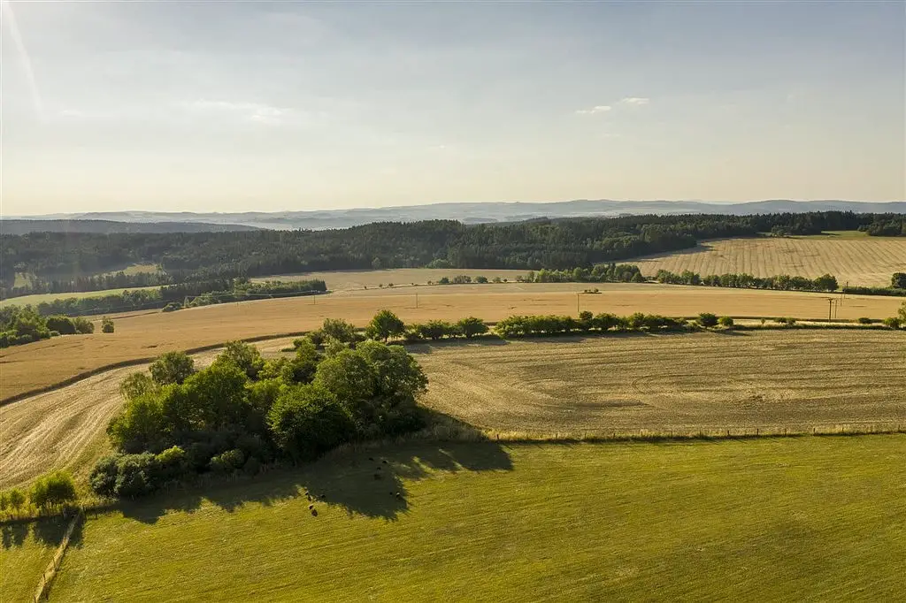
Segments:
[[[133,263],[157,264],[174,283],[429,265],[590,269],[596,263],[686,249],[708,238],[771,232],[816,235],[824,230],[866,230],[898,220],[902,220],[901,215],[851,212],[631,215],[503,225],[431,220],[329,231],[2,235],[0,283],[4,287],[2,293],[8,295],[12,293],[15,273],[32,274],[40,282],[75,281],[78,276],[111,272]]]

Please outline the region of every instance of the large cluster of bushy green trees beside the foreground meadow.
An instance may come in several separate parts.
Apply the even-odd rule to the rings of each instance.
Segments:
[[[340,323],[325,322],[323,349],[297,340],[292,358],[265,361],[233,341],[207,369],[170,352],[126,378],[126,405],[108,427],[117,453],[92,471],[94,491],[140,496],[196,474],[255,474],[422,426],[416,398],[428,379],[415,359],[381,341],[334,339],[352,333]]]

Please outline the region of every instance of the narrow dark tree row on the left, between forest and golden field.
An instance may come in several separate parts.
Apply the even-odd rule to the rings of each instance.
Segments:
[[[99,297],[69,297],[52,302],[41,302],[37,305],[37,311],[42,316],[52,314],[82,316],[155,308],[173,311],[183,307],[206,306],[213,303],[312,295],[326,291],[327,285],[321,280],[249,282],[247,279],[215,279],[183,282],[158,289],[124,291]]]

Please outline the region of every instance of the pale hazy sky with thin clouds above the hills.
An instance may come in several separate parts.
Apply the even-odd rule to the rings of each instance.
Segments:
[[[902,200],[904,30],[902,1],[3,0],[2,211]]]

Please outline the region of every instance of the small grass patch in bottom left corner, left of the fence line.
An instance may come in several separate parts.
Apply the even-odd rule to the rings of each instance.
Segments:
[[[0,602],[33,600],[43,571],[53,559],[53,551],[63,539],[62,520],[32,523],[7,523],[0,526]],[[74,540],[73,540],[74,541]]]

